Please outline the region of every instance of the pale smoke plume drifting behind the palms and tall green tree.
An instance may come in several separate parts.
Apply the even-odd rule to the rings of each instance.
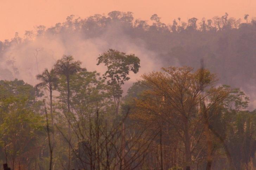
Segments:
[[[141,60],[141,68],[137,74],[131,74],[128,84],[140,78],[141,74],[159,70],[160,63],[156,54],[145,47],[141,39],[132,39],[123,33],[121,26],[111,25],[107,31],[97,37],[88,38],[81,32],[72,33],[45,33],[34,40],[24,40],[22,43],[10,45],[2,55],[1,79],[22,79],[26,83],[38,83],[36,75],[45,68],[51,69],[56,60],[63,54],[73,55],[76,60],[82,61],[82,67],[88,71],[104,73],[104,65],[97,66],[99,54],[109,48],[135,54]],[[127,87],[125,87],[127,89]]]

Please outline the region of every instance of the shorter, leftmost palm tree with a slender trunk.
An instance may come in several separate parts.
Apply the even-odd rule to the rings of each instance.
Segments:
[[[51,70],[50,72],[48,71],[47,68],[45,68],[44,72],[42,74],[37,75],[37,79],[41,80],[40,83],[36,85],[36,88],[47,88],[50,91],[50,107],[51,107],[51,125],[53,127],[53,114],[52,114],[52,91],[56,89],[57,86],[57,76],[55,73],[55,70]],[[47,113],[47,112],[46,112]],[[47,114],[46,114],[46,119],[47,119]],[[48,126],[48,119],[47,119],[47,132],[49,135],[49,126]],[[53,152],[53,146],[54,146],[54,134],[52,133],[52,143],[50,141],[50,136],[49,137],[49,149],[50,149],[50,170],[52,168],[52,152]]]

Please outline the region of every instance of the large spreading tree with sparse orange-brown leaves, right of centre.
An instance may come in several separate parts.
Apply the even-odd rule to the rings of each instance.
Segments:
[[[148,100],[138,100],[137,107],[147,106],[146,115],[149,114],[148,110],[151,110],[155,114],[165,116],[184,143],[185,165],[190,169],[192,153],[204,130],[200,125],[203,115],[199,113],[199,104],[203,99],[207,99],[204,110],[207,111],[222,101],[228,91],[222,86],[211,87],[216,81],[216,76],[205,69],[192,72],[191,67],[168,67],[162,70],[164,73],[153,72],[142,76],[143,82],[149,88],[145,91]],[[201,76],[202,72],[204,76]],[[204,92],[206,88],[209,90]],[[156,103],[156,107],[153,107],[152,103]]]

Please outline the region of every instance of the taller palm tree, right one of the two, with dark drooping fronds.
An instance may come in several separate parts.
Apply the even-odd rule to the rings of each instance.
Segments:
[[[64,75],[66,77],[67,83],[67,102],[68,102],[68,113],[70,113],[70,76],[81,70],[81,61],[74,61],[72,55],[63,55],[62,59],[57,60],[55,64],[55,71],[59,75]],[[68,169],[70,169],[70,143],[71,143],[71,131],[69,124],[69,164]]]

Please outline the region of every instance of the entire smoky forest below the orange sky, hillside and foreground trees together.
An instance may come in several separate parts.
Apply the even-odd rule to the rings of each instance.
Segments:
[[[16,33],[0,41],[0,163],[256,169],[255,45],[248,14],[165,24],[112,11]]]

